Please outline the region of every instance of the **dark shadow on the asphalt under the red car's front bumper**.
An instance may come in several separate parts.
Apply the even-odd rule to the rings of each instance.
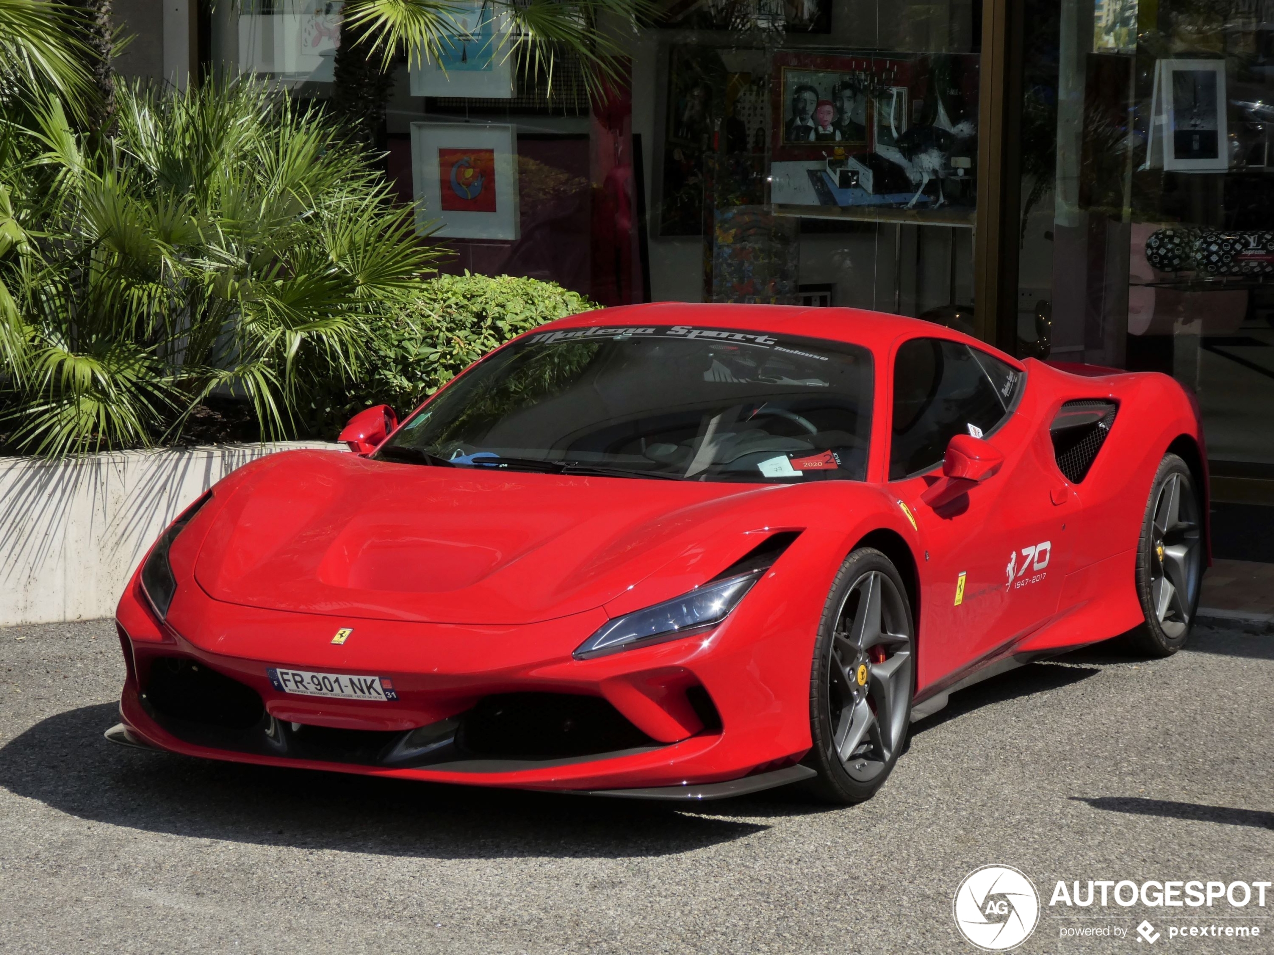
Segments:
[[[113,704],[0,747],[0,786],[82,819],[205,839],[426,858],[666,856],[763,831],[668,803],[440,786],[145,753]],[[684,809],[684,807],[680,807]]]

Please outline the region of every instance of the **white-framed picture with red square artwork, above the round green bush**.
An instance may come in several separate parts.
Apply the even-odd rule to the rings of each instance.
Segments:
[[[417,228],[436,236],[515,241],[517,150],[512,126],[412,124]]]

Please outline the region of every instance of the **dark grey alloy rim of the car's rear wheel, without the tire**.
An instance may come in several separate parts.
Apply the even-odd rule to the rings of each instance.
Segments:
[[[1150,600],[1159,626],[1171,639],[1190,626],[1199,559],[1199,503],[1182,475],[1168,474],[1154,502]]]

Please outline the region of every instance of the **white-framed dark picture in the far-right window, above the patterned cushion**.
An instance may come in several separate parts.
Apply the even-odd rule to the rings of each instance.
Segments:
[[[1150,122],[1153,126],[1156,112],[1162,115],[1163,168],[1177,172],[1228,169],[1226,61],[1159,60],[1154,85],[1159,102],[1152,104]]]

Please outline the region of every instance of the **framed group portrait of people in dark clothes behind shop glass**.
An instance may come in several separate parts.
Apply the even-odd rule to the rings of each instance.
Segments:
[[[870,148],[878,64],[861,56],[776,53],[775,158],[813,159],[837,146],[848,153]]]

